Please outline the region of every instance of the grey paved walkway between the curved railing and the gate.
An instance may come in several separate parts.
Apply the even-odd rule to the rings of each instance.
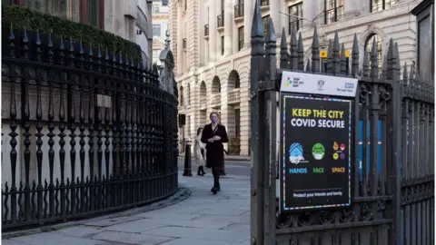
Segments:
[[[157,209],[165,205],[152,204],[152,209],[133,209],[33,232],[3,233],[2,244],[248,244],[250,175],[237,171],[243,167],[233,165],[226,162],[227,176],[223,177],[222,191],[217,195],[210,192],[213,178],[209,170],[203,177],[196,176],[196,172],[193,177],[183,177],[183,169],[179,168],[180,190],[185,191],[179,190],[178,197],[169,199],[171,206]],[[244,165],[250,172],[249,165]]]

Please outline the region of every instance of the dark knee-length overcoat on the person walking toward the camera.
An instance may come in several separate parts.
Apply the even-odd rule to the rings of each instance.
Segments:
[[[221,140],[215,142],[207,141],[215,135],[220,136]],[[222,124],[217,124],[217,126],[213,129],[212,123],[204,125],[202,142],[206,144],[206,167],[222,169],[224,162],[223,143],[229,142],[225,126]]]

